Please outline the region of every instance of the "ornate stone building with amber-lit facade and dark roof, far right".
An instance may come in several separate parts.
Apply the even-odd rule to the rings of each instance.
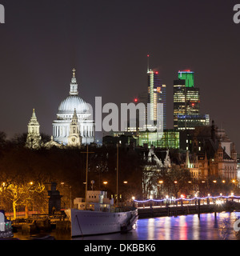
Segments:
[[[186,167],[190,168],[193,178],[204,180],[208,175],[224,178],[226,181],[238,178],[238,158],[234,142],[230,141],[226,130],[214,125],[214,121],[212,126],[198,126],[191,130],[187,143]]]

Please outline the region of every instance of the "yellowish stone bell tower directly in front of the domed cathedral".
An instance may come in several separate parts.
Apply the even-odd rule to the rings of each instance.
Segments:
[[[78,122],[78,116],[76,109],[74,109],[74,116],[70,123],[70,131],[68,136],[67,146],[81,146],[82,138],[80,136],[80,126]]]

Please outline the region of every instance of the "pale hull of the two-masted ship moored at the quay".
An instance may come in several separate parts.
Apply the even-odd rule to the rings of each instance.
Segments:
[[[132,230],[138,220],[138,210],[102,212],[91,210],[66,210],[71,222],[71,236],[111,234]]]

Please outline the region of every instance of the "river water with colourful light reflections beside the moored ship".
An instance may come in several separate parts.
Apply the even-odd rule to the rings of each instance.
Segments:
[[[74,238],[73,240],[240,240],[238,232],[234,231],[234,222],[240,217],[240,212],[182,215],[177,218],[145,218],[138,219],[137,227],[127,234],[108,234]],[[52,232],[56,240],[71,240],[69,234]],[[29,236],[14,234],[14,238],[28,240]]]

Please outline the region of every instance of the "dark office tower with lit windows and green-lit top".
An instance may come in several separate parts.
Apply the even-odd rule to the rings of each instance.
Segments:
[[[210,124],[208,114],[200,114],[200,90],[194,86],[194,72],[178,72],[174,80],[174,129],[193,130]]]

